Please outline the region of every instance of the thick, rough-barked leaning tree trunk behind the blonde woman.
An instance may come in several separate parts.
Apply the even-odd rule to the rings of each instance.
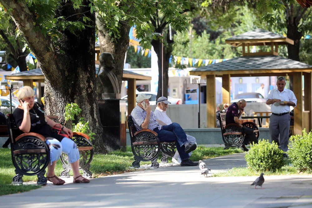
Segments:
[[[36,30],[33,24],[36,17],[24,1],[0,1],[10,12],[28,46],[34,52],[45,76],[44,97],[47,115],[57,115],[60,122],[64,122],[66,103],[75,102],[82,109],[85,120],[89,120],[91,131],[96,134],[93,141],[95,151],[105,153],[103,130],[99,127],[100,115],[96,102],[95,27],[85,27],[75,34],[68,30],[63,31],[59,47],[65,54],[60,54],[51,38]],[[77,21],[86,16],[91,19],[90,25],[95,26],[95,15],[90,13],[89,3],[84,0],[83,7],[74,9],[71,2],[62,2],[56,11],[56,17],[63,16],[70,21]],[[9,8],[14,9],[10,11]]]

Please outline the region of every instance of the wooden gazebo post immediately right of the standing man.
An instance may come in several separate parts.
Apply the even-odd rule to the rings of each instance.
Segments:
[[[294,93],[297,106],[294,108],[294,134],[302,134],[302,72],[294,72]]]

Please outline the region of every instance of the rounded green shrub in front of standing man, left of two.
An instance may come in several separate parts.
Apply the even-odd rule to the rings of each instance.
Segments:
[[[259,141],[259,144],[251,146],[245,159],[248,167],[253,171],[275,172],[285,164],[283,151],[275,142],[271,144],[268,140]]]

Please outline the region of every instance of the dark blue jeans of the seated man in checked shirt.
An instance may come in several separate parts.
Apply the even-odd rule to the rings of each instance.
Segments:
[[[185,146],[184,144],[188,141],[186,139],[186,134],[180,124],[172,123],[167,126],[163,126],[160,130],[155,128],[155,131],[158,134],[158,138],[160,141],[165,142],[176,142],[177,150],[181,157],[181,160],[187,160],[190,158],[188,153],[185,153]]]

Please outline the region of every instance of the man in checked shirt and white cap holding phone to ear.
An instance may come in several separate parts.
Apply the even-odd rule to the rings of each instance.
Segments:
[[[137,105],[131,112],[132,119],[136,129],[150,129],[158,134],[160,141],[175,141],[177,150],[181,157],[181,166],[197,166],[198,163],[192,162],[188,155],[189,152],[196,149],[196,144],[188,143],[187,137],[183,129],[178,123],[161,126],[157,122],[157,117],[149,106],[149,98],[151,95],[139,94],[136,97]]]

